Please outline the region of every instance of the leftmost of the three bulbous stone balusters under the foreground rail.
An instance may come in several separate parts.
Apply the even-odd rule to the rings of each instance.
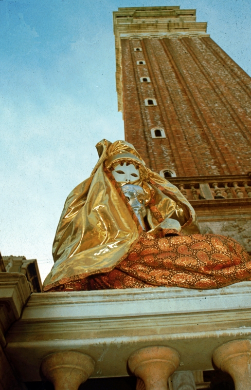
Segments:
[[[78,390],[94,370],[89,355],[75,351],[52,353],[44,358],[41,370],[55,390]]]

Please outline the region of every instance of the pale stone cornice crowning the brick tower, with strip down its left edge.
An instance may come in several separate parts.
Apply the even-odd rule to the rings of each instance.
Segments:
[[[113,12],[118,110],[123,111],[121,39],[205,37],[207,23],[196,22],[195,9],[127,7]]]

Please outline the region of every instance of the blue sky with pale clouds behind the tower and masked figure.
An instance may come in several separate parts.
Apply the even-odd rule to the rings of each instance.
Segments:
[[[53,264],[70,191],[95,144],[124,138],[117,112],[112,11],[180,5],[251,75],[251,1],[0,0],[0,251]]]

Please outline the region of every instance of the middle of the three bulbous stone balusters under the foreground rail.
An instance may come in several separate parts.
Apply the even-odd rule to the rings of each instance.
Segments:
[[[128,366],[143,380],[145,390],[167,390],[169,376],[179,367],[179,353],[162,346],[142,348],[131,354]]]

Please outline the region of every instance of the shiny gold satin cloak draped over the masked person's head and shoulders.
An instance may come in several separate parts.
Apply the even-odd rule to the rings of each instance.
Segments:
[[[54,238],[55,264],[44,281],[44,291],[58,283],[111,271],[140,238],[125,202],[104,172],[104,161],[110,156],[131,153],[140,158],[143,163],[141,185],[146,190],[154,189],[156,207],[162,217],[178,220],[185,234],[199,232],[194,209],[187,199],[177,187],[147,169],[131,144],[125,141],[111,143],[104,139],[96,148],[100,158],[92,175],[74,188],[66,199]],[[149,211],[147,218],[152,229],[158,225],[161,227]]]

